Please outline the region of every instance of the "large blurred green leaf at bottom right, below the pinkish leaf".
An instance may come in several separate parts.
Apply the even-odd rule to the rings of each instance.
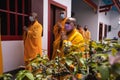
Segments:
[[[101,74],[101,80],[107,80],[109,78],[109,69],[107,66],[100,66],[98,67],[98,71]]]

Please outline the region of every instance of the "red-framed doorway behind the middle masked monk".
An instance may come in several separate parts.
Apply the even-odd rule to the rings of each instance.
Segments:
[[[48,9],[48,57],[51,59],[53,52],[53,28],[55,23],[60,20],[60,11],[66,10],[67,7],[63,6],[57,2],[49,0],[49,9]]]

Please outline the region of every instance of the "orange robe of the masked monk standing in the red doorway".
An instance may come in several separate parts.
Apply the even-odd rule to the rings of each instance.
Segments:
[[[54,29],[53,29],[54,42],[53,42],[52,59],[54,59],[57,56],[57,49],[60,49],[61,32],[64,31],[64,26],[65,26],[66,20],[67,20],[67,18],[57,22],[54,26]],[[59,29],[58,23],[60,23],[62,25],[61,29]]]

